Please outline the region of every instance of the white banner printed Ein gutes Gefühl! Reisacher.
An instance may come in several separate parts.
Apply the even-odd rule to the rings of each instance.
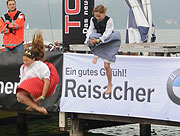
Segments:
[[[109,95],[104,62],[92,59],[91,54],[64,54],[62,112],[180,122],[180,58],[117,56]]]

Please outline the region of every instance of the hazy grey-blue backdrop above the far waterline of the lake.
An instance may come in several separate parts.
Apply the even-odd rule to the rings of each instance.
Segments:
[[[16,1],[17,9],[25,14],[30,29],[62,28],[62,0]],[[151,0],[151,3],[153,23],[157,29],[180,29],[180,0]],[[126,28],[129,9],[125,0],[95,0],[95,6],[98,4],[107,7],[107,15],[113,18],[116,29]],[[0,16],[6,12],[6,0],[0,0]]]

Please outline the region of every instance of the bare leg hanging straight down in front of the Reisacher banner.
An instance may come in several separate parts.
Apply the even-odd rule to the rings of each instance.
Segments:
[[[110,94],[112,89],[112,70],[110,67],[110,63],[104,62],[104,68],[106,69],[106,75],[108,79],[108,86],[105,94]]]

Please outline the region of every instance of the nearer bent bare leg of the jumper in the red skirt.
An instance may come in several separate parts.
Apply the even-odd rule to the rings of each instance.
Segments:
[[[17,99],[20,100],[21,103],[26,104],[28,107],[35,109],[38,112],[45,115],[48,114],[47,110],[44,107],[40,107],[38,104],[36,104],[30,94],[24,90],[17,93]]]

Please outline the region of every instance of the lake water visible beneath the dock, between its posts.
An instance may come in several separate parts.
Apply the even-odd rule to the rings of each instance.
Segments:
[[[0,120],[0,136],[16,135],[16,120]],[[2,123],[3,121],[3,123]],[[152,136],[179,136],[180,127],[151,126]],[[29,119],[29,136],[69,136],[68,133],[59,132],[58,117]],[[85,132],[85,136],[139,136],[139,124],[107,127]]]

